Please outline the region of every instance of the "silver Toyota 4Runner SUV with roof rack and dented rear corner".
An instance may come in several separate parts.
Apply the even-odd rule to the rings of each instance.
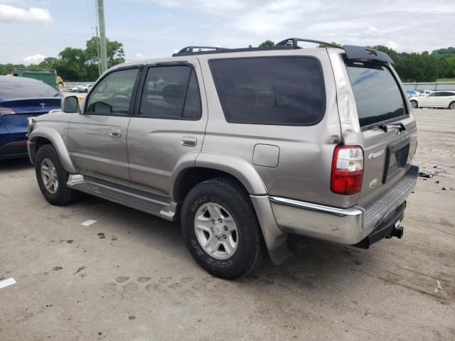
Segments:
[[[210,274],[237,278],[297,235],[368,248],[402,237],[417,127],[388,55],[290,38],[188,47],[112,67],[79,107],[30,120],[48,202],[78,191],[180,220]],[[321,42],[317,42],[321,43]]]

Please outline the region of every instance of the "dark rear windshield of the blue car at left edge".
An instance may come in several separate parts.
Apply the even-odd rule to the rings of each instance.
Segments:
[[[20,77],[0,77],[0,99],[58,97],[60,92],[45,82]]]

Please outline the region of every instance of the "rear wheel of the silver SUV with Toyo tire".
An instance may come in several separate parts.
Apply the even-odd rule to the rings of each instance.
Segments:
[[[183,200],[181,228],[193,258],[214,276],[245,275],[265,252],[250,198],[228,178],[207,180],[190,190]]]

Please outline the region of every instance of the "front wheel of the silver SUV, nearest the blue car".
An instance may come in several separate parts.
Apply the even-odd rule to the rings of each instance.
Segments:
[[[75,199],[77,193],[66,185],[69,173],[63,168],[57,151],[51,144],[38,149],[35,173],[41,193],[50,204],[63,206]]]

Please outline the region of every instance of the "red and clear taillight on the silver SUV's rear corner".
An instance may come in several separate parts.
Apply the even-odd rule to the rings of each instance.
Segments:
[[[363,149],[360,146],[336,146],[333,152],[330,189],[350,195],[360,192],[363,180]]]

